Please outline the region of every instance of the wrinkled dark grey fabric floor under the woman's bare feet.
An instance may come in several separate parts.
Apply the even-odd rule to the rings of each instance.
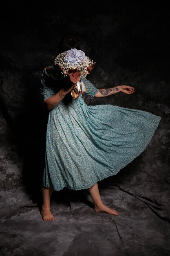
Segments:
[[[55,221],[43,221],[25,187],[2,189],[0,255],[170,255],[170,177],[154,164],[145,171],[150,151],[98,182],[102,201],[119,216],[96,213],[87,190],[65,188],[51,197]]]

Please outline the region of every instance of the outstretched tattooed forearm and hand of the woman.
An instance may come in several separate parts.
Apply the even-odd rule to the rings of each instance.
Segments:
[[[106,97],[117,92],[124,92],[126,94],[132,94],[135,92],[135,88],[128,85],[119,85],[113,88],[99,88],[98,92],[94,95],[95,98]]]

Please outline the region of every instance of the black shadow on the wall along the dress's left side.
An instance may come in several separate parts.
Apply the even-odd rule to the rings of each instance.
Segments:
[[[41,95],[40,73],[35,75],[36,90],[27,94],[26,111],[18,117],[16,124],[20,127],[22,141],[24,142],[23,158],[23,185],[31,196],[33,202],[42,202],[42,178],[44,171],[46,127],[49,110],[47,110]],[[31,81],[33,82],[33,81]],[[35,89],[34,88],[34,89]],[[31,103],[31,104],[30,104]]]

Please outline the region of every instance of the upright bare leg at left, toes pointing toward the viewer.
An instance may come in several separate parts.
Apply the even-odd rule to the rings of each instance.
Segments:
[[[53,187],[45,188],[42,186],[42,209],[41,215],[43,220],[55,220],[50,211],[50,198],[53,193]]]

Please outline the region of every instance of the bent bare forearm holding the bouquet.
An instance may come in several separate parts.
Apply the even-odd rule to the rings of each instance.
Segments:
[[[44,102],[48,108],[48,110],[51,110],[52,108],[55,108],[55,106],[57,106],[60,101],[62,101],[62,99],[66,96],[66,94],[68,92],[70,92],[73,87],[75,86],[75,84],[73,84],[70,88],[68,88],[67,90],[64,90],[63,88],[60,89],[59,92],[57,92],[54,96],[49,97],[48,99],[45,99]]]

